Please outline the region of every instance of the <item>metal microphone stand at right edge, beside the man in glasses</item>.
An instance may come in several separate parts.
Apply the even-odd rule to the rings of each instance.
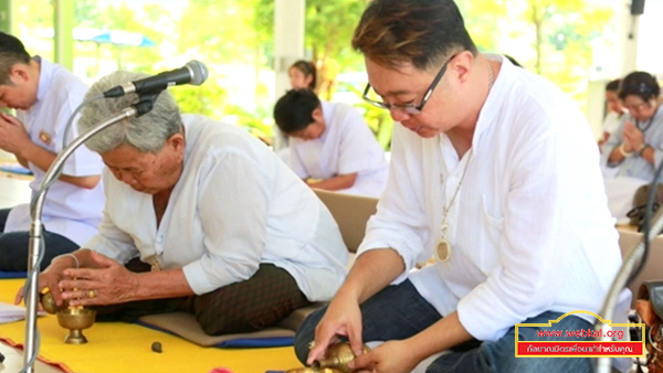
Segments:
[[[621,290],[627,286],[627,280],[629,279],[629,274],[633,270],[635,264],[642,258],[644,254],[644,241],[648,239],[652,242],[659,232],[663,228],[663,209],[659,209],[653,216],[652,221],[654,222],[649,231],[649,235],[645,237],[644,234],[640,242],[635,245],[634,248],[629,252],[629,255],[623,259],[622,266],[619,268],[617,276],[614,276],[614,280],[612,280],[612,285],[610,286],[610,290],[606,296],[606,300],[603,301],[603,307],[601,308],[601,317],[603,320],[612,320],[614,315],[614,307],[617,306],[617,298]],[[633,295],[635,297],[635,295]],[[602,326],[603,327],[603,326]],[[602,328],[601,327],[601,328]],[[610,326],[606,326],[608,330],[610,330]],[[597,324],[594,329],[599,329]],[[607,342],[610,341],[610,337],[606,337],[608,333],[603,333],[601,335],[600,341]],[[599,358],[597,362],[597,372],[598,373],[610,373],[611,364],[610,358]]]

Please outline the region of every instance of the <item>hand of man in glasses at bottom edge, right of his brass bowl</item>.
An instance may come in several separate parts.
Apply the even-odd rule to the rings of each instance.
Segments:
[[[357,356],[348,366],[358,372],[409,373],[419,362],[406,341],[389,341]]]

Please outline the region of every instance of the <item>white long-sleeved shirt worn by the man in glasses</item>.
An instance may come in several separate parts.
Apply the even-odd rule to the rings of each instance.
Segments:
[[[394,248],[402,281],[433,255],[470,161],[448,216],[451,256],[411,280],[484,341],[547,310],[599,312],[621,263],[585,117],[551,83],[488,58],[502,68],[462,160],[445,135],[394,127],[387,189],[359,248]]]

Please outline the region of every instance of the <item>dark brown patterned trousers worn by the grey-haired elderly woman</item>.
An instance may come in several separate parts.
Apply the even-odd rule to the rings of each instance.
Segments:
[[[134,259],[133,271],[149,266]],[[185,311],[196,316],[209,335],[262,330],[278,323],[297,308],[311,305],[295,279],[282,268],[261,264],[245,281],[234,283],[200,296],[139,300],[96,307],[98,321],[134,322],[141,316]]]

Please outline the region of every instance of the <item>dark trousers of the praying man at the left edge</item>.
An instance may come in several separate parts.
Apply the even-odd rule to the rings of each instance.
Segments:
[[[28,270],[28,253],[30,232],[4,232],[7,216],[10,209],[0,210],[0,270],[21,271]],[[44,270],[54,257],[61,254],[78,249],[78,245],[65,236],[43,231],[43,243],[45,245],[44,258],[41,270]]]

